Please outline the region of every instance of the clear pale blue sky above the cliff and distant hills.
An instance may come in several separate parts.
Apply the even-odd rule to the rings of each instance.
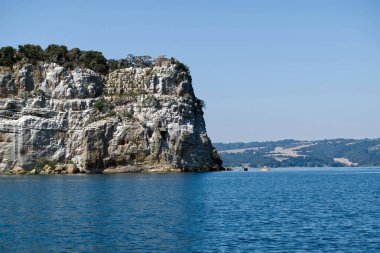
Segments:
[[[380,137],[380,1],[0,0],[0,46],[186,63],[214,142]]]

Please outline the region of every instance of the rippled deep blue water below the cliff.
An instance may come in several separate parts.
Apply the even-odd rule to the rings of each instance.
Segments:
[[[0,252],[380,252],[380,169],[0,177]]]

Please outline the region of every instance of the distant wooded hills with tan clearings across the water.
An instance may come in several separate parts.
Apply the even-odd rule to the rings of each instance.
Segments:
[[[380,166],[380,139],[281,140],[214,146],[226,167]]]

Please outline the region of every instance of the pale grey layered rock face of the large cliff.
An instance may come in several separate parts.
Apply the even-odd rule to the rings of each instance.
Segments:
[[[169,59],[106,76],[0,67],[0,172],[41,159],[88,173],[218,170],[202,106],[187,69]]]

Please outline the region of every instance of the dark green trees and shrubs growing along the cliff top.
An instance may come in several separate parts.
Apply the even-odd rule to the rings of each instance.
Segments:
[[[11,46],[0,48],[0,66],[12,67],[16,63],[31,63],[38,62],[54,62],[60,66],[74,69],[76,67],[84,67],[92,69],[95,72],[106,75],[108,72],[115,69],[127,67],[150,67],[154,64],[159,64],[159,60],[166,59],[159,57],[156,60],[150,56],[135,56],[129,54],[125,59],[107,60],[101,52],[85,51],[79,48],[67,49],[63,45],[49,45],[46,49],[42,49],[39,45],[19,45],[18,49]],[[174,58],[169,59],[173,64],[176,64],[178,70],[189,72],[189,68]]]

